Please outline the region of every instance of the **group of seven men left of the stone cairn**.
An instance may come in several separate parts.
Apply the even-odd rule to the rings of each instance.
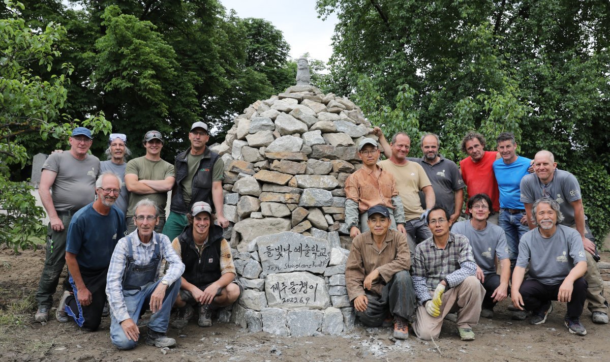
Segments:
[[[137,322],[146,310],[152,312],[146,344],[170,347],[176,344],[166,335],[174,306],[176,327],[188,324],[194,307],[199,326],[209,327],[215,310],[239,298],[242,287],[223,238],[229,223],[223,215],[224,163],[206,147],[206,123],[193,123],[188,139],[191,147],[171,165],[160,157],[159,131],[146,132],[145,156],[129,162],[127,137],[110,134],[109,160],[100,162],[88,154],[90,130],[77,127],[70,150],[48,157],[39,194],[49,228],[35,320],[48,320],[64,264],[68,277],[57,320],[95,331],[110,314],[110,339],[119,349],[137,346]]]

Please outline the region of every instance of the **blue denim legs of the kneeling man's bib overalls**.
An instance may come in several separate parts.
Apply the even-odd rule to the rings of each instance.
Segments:
[[[151,294],[154,292],[154,289],[157,288],[160,281],[161,280],[157,280],[155,282],[151,281],[151,283],[142,286],[141,289],[123,291],[123,298],[125,300],[125,305],[127,306],[127,313],[129,313],[129,317],[134,320],[135,324],[138,324],[140,315],[146,311],[146,308],[150,303]],[[157,313],[153,313],[148,322],[149,330],[154,330],[160,333],[165,333],[167,331],[167,326],[170,324],[171,306],[174,305],[174,302],[176,302],[176,297],[178,297],[180,282],[181,279],[179,278],[178,280],[174,281],[174,283],[171,284],[165,291],[165,297],[163,297],[161,310],[157,311]],[[142,333],[140,333],[140,337],[142,337]],[[137,341],[130,341],[127,339],[123,328],[121,328],[121,323],[115,318],[115,316],[112,316],[112,321],[110,322],[110,341],[112,341],[112,344],[117,346],[118,349],[134,349],[138,344]]]

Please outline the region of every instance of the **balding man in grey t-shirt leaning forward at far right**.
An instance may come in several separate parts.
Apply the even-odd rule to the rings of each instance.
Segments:
[[[587,218],[584,215],[580,185],[572,175],[557,169],[557,162],[549,151],[539,151],[534,157],[535,174],[526,175],[521,180],[521,201],[528,215],[529,228],[535,227],[532,214],[534,201],[549,197],[557,201],[559,210],[564,215],[561,225],[570,226],[580,234],[584,250],[587,252],[587,273],[585,279],[589,284],[587,300],[591,319],[597,324],[608,323],[608,302],[604,298],[604,284],[600,269],[593,258],[595,255],[595,238],[589,231]]]

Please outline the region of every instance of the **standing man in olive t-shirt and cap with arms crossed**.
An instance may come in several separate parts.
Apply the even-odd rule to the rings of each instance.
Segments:
[[[144,135],[142,144],[146,148],[146,155],[127,162],[125,168],[125,184],[129,195],[127,205],[126,224],[127,232],[136,229],[134,220],[135,205],[140,200],[148,198],[159,208],[159,223],[154,230],[160,233],[165,225],[165,205],[167,205],[167,192],[174,186],[174,166],[161,159],[163,136],[159,131],[148,131]]]

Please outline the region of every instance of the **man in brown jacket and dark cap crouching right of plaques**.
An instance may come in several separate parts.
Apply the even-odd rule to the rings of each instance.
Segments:
[[[354,238],[345,267],[347,292],[362,324],[378,327],[393,316],[394,338],[406,339],[415,311],[407,237],[390,230],[386,206],[373,206],[367,214],[370,230]]]

